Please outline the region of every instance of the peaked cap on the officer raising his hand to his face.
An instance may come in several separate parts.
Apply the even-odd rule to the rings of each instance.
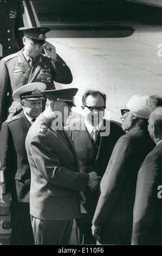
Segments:
[[[46,33],[51,29],[48,27],[22,27],[18,30],[24,32],[24,36],[30,38],[35,44],[44,44],[46,42]]]

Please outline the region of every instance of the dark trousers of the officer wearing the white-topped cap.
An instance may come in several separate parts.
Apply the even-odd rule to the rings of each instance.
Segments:
[[[30,221],[29,203],[13,202],[11,211],[11,245],[34,245],[33,229]]]

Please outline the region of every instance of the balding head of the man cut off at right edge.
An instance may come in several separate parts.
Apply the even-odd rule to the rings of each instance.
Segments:
[[[162,139],[162,107],[156,108],[148,119],[148,131],[155,143]]]

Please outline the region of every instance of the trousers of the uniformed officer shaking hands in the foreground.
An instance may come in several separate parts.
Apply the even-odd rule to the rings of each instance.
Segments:
[[[31,216],[35,245],[69,245],[73,221],[47,221]]]

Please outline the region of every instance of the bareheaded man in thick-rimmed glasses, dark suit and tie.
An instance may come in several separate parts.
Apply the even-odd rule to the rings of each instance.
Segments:
[[[94,90],[88,90],[82,97],[84,119],[74,121],[65,129],[74,142],[81,173],[95,171],[100,177],[105,173],[109,157],[115,143],[124,133],[119,125],[103,119],[106,108],[106,95]],[[75,127],[75,129],[73,129]],[[94,131],[98,135],[94,135]],[[83,203],[82,218],[76,220],[79,227],[79,237],[86,245],[95,244],[91,225],[99,191],[87,188]],[[82,234],[83,239],[82,239]]]

